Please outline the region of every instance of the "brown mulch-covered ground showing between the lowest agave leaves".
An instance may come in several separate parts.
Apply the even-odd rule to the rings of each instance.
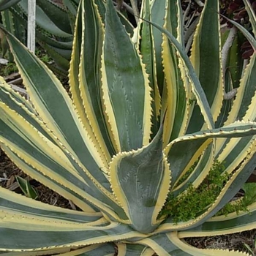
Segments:
[[[38,181],[29,178],[20,170],[1,150],[0,153],[0,186],[22,194],[15,176],[21,176],[29,180],[30,184],[37,189],[39,198],[42,203],[59,206],[63,208],[75,209],[75,206],[69,200],[61,197],[58,193],[40,184]],[[234,233],[227,236],[213,236],[202,238],[186,239],[187,243],[199,249],[230,249],[246,252],[244,244],[253,248],[256,230]],[[256,255],[256,254],[255,254]],[[225,256],[225,255],[223,255]]]

